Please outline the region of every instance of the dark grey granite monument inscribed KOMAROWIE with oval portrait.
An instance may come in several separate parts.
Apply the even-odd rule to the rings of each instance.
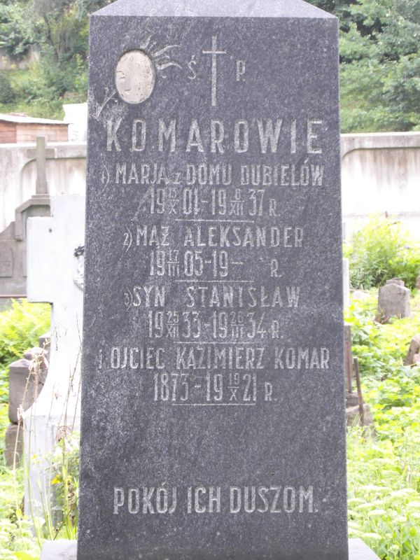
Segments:
[[[337,20],[91,18],[78,560],[346,560]]]

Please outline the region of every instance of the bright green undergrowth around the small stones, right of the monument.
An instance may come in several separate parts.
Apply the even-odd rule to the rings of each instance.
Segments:
[[[405,367],[420,332],[420,295],[412,317],[375,323],[376,290],[353,300],[346,316],[358,356],[374,437],[350,428],[347,437],[349,534],[382,560],[420,560],[420,367]]]

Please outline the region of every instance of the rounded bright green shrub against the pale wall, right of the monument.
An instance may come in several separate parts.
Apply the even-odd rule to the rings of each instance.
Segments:
[[[420,273],[420,246],[397,221],[372,218],[353,235],[344,253],[350,260],[353,288],[382,286],[395,277],[414,288]]]

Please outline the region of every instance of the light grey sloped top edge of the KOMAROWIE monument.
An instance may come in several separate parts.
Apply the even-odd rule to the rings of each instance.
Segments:
[[[335,15],[304,0],[117,0],[93,14],[192,18],[318,18]]]

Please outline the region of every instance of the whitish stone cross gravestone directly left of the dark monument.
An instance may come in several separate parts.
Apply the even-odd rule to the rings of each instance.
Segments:
[[[24,416],[25,503],[31,500],[34,517],[48,507],[48,454],[57,430],[77,428],[80,416],[85,200],[78,195],[51,197],[51,214],[30,218],[27,237],[28,299],[52,303],[48,375]],[[30,460],[34,454],[37,461]]]

